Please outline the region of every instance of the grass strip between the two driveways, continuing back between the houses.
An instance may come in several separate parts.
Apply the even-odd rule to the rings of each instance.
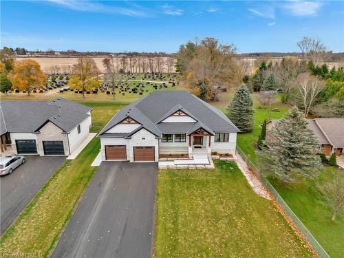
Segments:
[[[91,131],[99,131],[122,105],[85,103],[94,107]],[[99,153],[100,140],[94,138],[75,160],[67,160],[36,194],[17,221],[3,233],[0,254],[37,253],[47,257],[58,241],[80,196],[97,167],[91,166]]]

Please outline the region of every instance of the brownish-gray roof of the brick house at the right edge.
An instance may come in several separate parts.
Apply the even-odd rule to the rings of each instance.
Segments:
[[[344,118],[314,118],[314,121],[333,147],[344,147]]]

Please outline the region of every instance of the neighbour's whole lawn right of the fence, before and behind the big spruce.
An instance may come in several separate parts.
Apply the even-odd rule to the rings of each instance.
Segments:
[[[246,153],[253,163],[257,162],[255,148],[253,142],[258,140],[261,133],[261,125],[267,117],[268,109],[259,109],[257,96],[253,94],[255,105],[255,124],[251,133],[239,133],[237,136],[237,144],[240,149]],[[272,108],[278,107],[280,112],[271,112],[272,119],[281,118],[288,106],[277,103]],[[224,112],[226,110],[223,109]],[[326,168],[327,173],[321,174],[318,180],[326,180],[327,175],[331,173],[343,173],[343,171],[335,168]],[[273,186],[283,197],[286,203],[292,208],[292,211],[301,219],[306,228],[319,241],[319,244],[325,248],[331,257],[341,257],[344,252],[344,219],[343,215],[338,217],[336,222],[331,221],[330,208],[321,200],[319,191],[316,190],[317,181],[305,180],[305,182],[285,188],[279,184],[277,180],[271,180]]]

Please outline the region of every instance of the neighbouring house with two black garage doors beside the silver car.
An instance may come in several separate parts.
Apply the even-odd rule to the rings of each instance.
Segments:
[[[1,101],[1,152],[70,155],[89,135],[92,108],[64,98]]]

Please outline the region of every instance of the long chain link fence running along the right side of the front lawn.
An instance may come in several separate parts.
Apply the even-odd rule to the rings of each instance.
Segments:
[[[319,244],[318,241],[316,241],[315,237],[313,237],[312,233],[303,225],[299,217],[295,215],[295,213],[292,211],[292,209],[284,202],[283,198],[279,193],[277,193],[276,189],[270,182],[263,176],[261,173],[259,173],[259,170],[257,169],[257,166],[250,161],[250,159],[246,156],[244,151],[242,151],[239,146],[237,146],[237,153],[241,155],[241,158],[243,158],[252,171],[254,171],[261,182],[264,184],[266,189],[270,191],[270,193],[275,197],[275,200],[279,203],[281,208],[283,208],[283,211],[288,215],[290,220],[294,223],[294,225],[297,227],[297,230],[299,230],[300,233],[302,233],[305,236],[305,239],[308,241],[308,243],[314,248],[315,252],[319,255],[321,258],[330,258],[330,255],[327,254],[327,252],[324,250],[324,248]]]

